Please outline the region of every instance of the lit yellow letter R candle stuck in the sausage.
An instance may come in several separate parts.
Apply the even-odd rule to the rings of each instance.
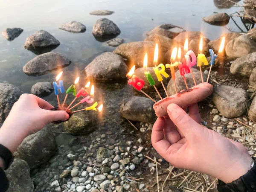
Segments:
[[[157,80],[161,82],[161,84],[163,86],[163,89],[164,89],[164,91],[166,93],[166,96],[169,97],[169,95],[167,93],[167,90],[166,90],[166,88],[165,88],[165,86],[163,84],[163,78],[162,78],[161,74],[165,78],[169,77],[169,75],[165,72],[165,67],[164,67],[163,64],[159,64],[158,66],[156,66],[157,65],[157,60],[158,60],[158,45],[156,44],[156,48],[155,48],[155,51],[154,51],[154,66],[155,67],[153,67],[153,70],[154,70],[154,72],[157,75]],[[159,67],[161,67],[161,70],[158,70]]]

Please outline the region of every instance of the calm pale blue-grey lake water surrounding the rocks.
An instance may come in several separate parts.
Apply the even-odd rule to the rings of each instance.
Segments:
[[[228,32],[227,28],[239,31],[232,20],[225,27],[212,26],[202,21],[202,17],[211,15],[213,12],[231,14],[239,9],[236,7],[218,9],[216,7],[225,1],[0,0],[0,31],[7,27],[24,29],[23,33],[14,41],[7,41],[0,36],[0,82],[17,85],[24,93],[30,93],[32,85],[36,82],[54,80],[59,71],[33,77],[27,76],[22,70],[22,67],[36,56],[24,49],[23,44],[29,35],[38,30],[44,29],[54,35],[61,42],[61,45],[54,51],[60,52],[72,60],[72,64],[64,68],[62,79],[65,87],[73,83],[76,76],[81,77],[81,85],[83,85],[85,81],[81,76],[81,70],[100,52],[113,51],[114,49],[105,46],[105,43],[96,41],[93,37],[91,31],[97,19],[106,17],[113,20],[121,29],[119,37],[124,38],[125,42],[143,41],[146,32],[162,23],[178,25],[186,30],[201,31],[212,40]],[[108,16],[89,15],[89,12],[99,9],[108,9],[115,13]],[[83,23],[87,27],[87,31],[73,34],[58,29],[60,24],[72,20]],[[244,29],[242,25],[240,26]],[[131,87],[127,89],[131,90]],[[55,99],[55,96],[52,93],[45,99],[52,100]]]

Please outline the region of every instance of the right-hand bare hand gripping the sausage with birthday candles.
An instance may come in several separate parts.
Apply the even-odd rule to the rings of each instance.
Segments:
[[[189,115],[176,104],[158,118],[151,135],[156,151],[176,168],[212,175],[230,183],[247,173],[252,158],[247,149],[201,125],[198,105]]]

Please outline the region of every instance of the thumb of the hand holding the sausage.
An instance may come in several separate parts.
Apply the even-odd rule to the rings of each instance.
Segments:
[[[200,138],[202,125],[195,122],[182,108],[172,103],[168,105],[167,113],[188,141],[195,141]]]

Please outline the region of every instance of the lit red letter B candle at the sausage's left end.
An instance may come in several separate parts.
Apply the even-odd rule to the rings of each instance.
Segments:
[[[135,71],[135,65],[131,68],[129,73],[127,73],[126,77],[128,78],[128,84],[132,85],[135,89],[143,93],[145,96],[147,96],[149,99],[151,99],[153,102],[156,103],[154,99],[152,99],[147,93],[145,93],[142,89],[144,86],[145,82],[143,79],[139,79],[137,76],[134,75]]]

